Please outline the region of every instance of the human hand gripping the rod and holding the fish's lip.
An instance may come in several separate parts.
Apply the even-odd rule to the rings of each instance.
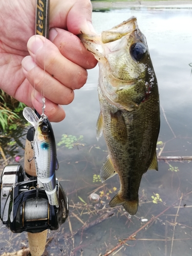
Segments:
[[[55,29],[50,30],[48,40],[33,36],[35,2],[1,0],[0,88],[28,106],[34,106],[39,113],[44,91],[45,114],[50,121],[58,122],[65,118],[65,111],[59,104],[73,100],[74,90],[86,83],[87,69],[97,63],[76,36],[81,31],[94,33],[92,7],[89,0],[51,0],[50,28]]]

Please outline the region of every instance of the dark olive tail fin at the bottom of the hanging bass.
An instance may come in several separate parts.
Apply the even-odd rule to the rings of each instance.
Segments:
[[[131,215],[135,215],[138,209],[138,204],[139,204],[139,200],[124,200],[123,198],[121,198],[121,196],[118,194],[115,195],[114,198],[112,198],[112,200],[110,201],[110,206],[111,207],[115,207],[117,205],[122,205],[125,210],[131,214]]]

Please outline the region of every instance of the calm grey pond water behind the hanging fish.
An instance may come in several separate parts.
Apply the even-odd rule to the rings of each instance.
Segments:
[[[131,16],[137,17],[159,86],[161,129],[157,154],[192,156],[192,5],[125,7],[96,9],[95,30],[100,33]],[[105,255],[126,239],[110,255],[190,255],[190,161],[159,161],[158,172],[148,170],[140,184],[137,214],[131,219],[123,207],[109,207],[119,180],[117,175],[104,183],[98,178],[108,152],[103,137],[97,141],[95,133],[100,111],[97,80],[98,66],[89,71],[86,85],[75,91],[74,101],[64,106],[65,120],[52,124],[56,143],[66,134],[73,147],[57,146],[56,176],[68,195],[70,215],[59,230],[48,233],[47,255]],[[93,192],[101,197],[100,201],[90,199]],[[106,214],[113,216],[107,218]],[[13,234],[2,226],[0,232],[2,253],[27,246],[26,233]]]

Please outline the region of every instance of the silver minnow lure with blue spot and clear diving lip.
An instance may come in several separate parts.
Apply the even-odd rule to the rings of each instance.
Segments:
[[[39,187],[44,187],[49,203],[58,205],[55,170],[58,169],[55,137],[48,117],[44,114],[38,119],[35,112],[26,107],[23,111],[25,119],[35,129],[33,154]]]

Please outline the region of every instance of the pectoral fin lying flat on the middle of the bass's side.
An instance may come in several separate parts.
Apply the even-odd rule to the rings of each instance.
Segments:
[[[111,113],[111,134],[121,142],[125,142],[127,139],[126,124],[120,111]]]

